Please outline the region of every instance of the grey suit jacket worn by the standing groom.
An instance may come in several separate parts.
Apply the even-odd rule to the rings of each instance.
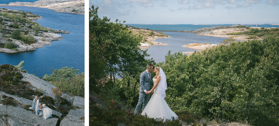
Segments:
[[[150,80],[151,80],[151,77],[149,78],[148,77],[148,72],[147,71],[144,71],[140,74],[140,79],[139,79],[139,91],[140,92],[144,92],[144,90],[146,91],[150,91],[150,89],[152,88],[151,86],[151,83],[150,83]]]

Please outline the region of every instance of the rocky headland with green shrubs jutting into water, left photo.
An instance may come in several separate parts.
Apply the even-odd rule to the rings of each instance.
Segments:
[[[41,17],[32,12],[0,9],[0,52],[37,50],[63,37],[56,33],[70,33],[39,25],[33,21]]]

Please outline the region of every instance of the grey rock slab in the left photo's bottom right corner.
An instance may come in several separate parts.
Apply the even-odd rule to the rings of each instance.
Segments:
[[[80,119],[82,117],[84,117],[84,109],[70,110],[69,114],[60,122],[60,126],[84,126],[84,120]]]

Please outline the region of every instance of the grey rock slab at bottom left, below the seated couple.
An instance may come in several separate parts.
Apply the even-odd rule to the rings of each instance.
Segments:
[[[11,126],[56,126],[58,118],[43,119],[41,115],[32,115],[21,107],[0,105],[0,125]]]

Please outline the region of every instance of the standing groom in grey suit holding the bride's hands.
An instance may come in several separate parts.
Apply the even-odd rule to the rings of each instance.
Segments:
[[[135,115],[139,113],[140,106],[142,105],[142,110],[144,110],[144,108],[145,108],[145,106],[148,102],[149,93],[147,91],[150,91],[151,88],[152,88],[151,83],[150,83],[150,80],[151,80],[150,72],[152,70],[153,70],[153,65],[149,63],[146,66],[146,71],[144,71],[140,74],[139,101],[138,101],[137,106],[135,108],[135,113],[134,113]],[[143,104],[142,104],[142,102],[143,102]]]

